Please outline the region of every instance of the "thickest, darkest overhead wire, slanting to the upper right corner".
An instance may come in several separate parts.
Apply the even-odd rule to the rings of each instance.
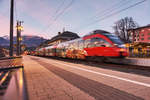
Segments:
[[[146,2],[146,1],[147,1],[147,0],[142,0],[142,1],[136,2],[136,3],[130,5],[130,6],[126,7],[126,8],[123,8],[123,9],[121,9],[121,10],[119,10],[119,11],[113,12],[113,13],[107,15],[107,16],[104,16],[104,17],[100,18],[100,19],[97,19],[97,20],[93,21],[92,23],[89,23],[89,24],[87,24],[87,25],[85,25],[85,26],[91,26],[91,25],[93,25],[93,24],[96,24],[96,23],[98,23],[99,21],[103,21],[103,20],[105,20],[105,19],[107,19],[107,18],[110,18],[110,17],[112,17],[112,16],[114,16],[114,15],[116,15],[116,14],[119,14],[119,13],[121,13],[121,12],[123,12],[123,11],[126,11],[126,10],[128,10],[128,9],[130,9],[130,8],[133,8],[133,7],[135,7],[135,6],[137,6],[137,5],[141,4],[141,3],[144,3],[144,2]],[[85,28],[85,27],[82,27],[82,28],[80,27],[78,30],[83,29],[83,28]]]

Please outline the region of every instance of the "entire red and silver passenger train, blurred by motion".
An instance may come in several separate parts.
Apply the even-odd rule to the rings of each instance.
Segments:
[[[101,60],[123,58],[128,53],[118,36],[104,30],[95,30],[82,38],[40,48],[34,55]]]

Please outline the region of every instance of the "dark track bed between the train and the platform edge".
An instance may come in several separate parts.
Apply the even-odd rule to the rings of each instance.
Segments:
[[[67,58],[60,58],[60,57],[44,57],[44,58],[61,60],[61,61],[77,63],[77,64],[90,65],[93,67],[100,67],[104,69],[110,69],[110,70],[115,70],[115,71],[117,70],[121,72],[139,74],[139,75],[150,77],[150,74],[149,74],[150,67],[146,67],[146,66],[116,64],[116,63],[110,63],[110,62],[97,62],[97,61],[87,61],[87,60],[78,60],[78,59],[67,59]]]

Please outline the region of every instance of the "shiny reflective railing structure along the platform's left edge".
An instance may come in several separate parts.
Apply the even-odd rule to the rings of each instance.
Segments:
[[[27,100],[22,57],[0,58],[0,100]]]

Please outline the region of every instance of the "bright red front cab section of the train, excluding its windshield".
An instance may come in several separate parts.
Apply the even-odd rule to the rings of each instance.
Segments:
[[[119,44],[114,43],[109,38],[95,35],[91,38],[85,38],[84,50],[88,57],[126,57],[127,50],[124,47],[119,47]]]

